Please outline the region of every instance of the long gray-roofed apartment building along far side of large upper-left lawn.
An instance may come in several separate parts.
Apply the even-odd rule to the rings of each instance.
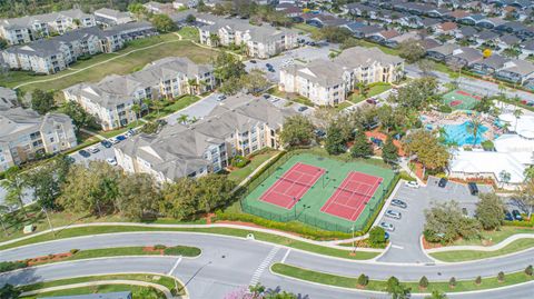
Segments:
[[[106,30],[83,28],[10,47],[2,51],[2,58],[11,69],[50,74],[67,69],[80,57],[115,52],[128,40],[154,34],[157,31],[148,22],[126,23]]]

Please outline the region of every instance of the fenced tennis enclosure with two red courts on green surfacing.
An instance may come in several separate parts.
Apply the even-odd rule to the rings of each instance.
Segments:
[[[394,179],[392,169],[377,163],[287,153],[254,181],[241,209],[274,221],[363,230],[380,209]]]

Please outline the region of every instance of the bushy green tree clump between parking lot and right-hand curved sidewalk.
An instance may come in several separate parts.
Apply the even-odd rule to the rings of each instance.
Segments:
[[[464,217],[456,201],[433,203],[425,210],[423,235],[429,242],[449,243],[457,238],[472,239],[479,235],[481,223]]]

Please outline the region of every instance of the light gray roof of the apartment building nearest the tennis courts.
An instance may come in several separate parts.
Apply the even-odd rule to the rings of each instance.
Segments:
[[[166,126],[158,134],[141,133],[117,147],[128,156],[148,161],[154,170],[174,180],[207,167],[209,161],[204,153],[210,146],[219,146],[237,131],[247,131],[258,123],[278,128],[284,118],[294,113],[263,98],[237,94],[191,126]]]

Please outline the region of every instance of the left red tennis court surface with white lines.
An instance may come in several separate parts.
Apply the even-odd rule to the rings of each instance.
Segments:
[[[323,168],[298,162],[287,170],[259,199],[290,209],[324,172]]]

